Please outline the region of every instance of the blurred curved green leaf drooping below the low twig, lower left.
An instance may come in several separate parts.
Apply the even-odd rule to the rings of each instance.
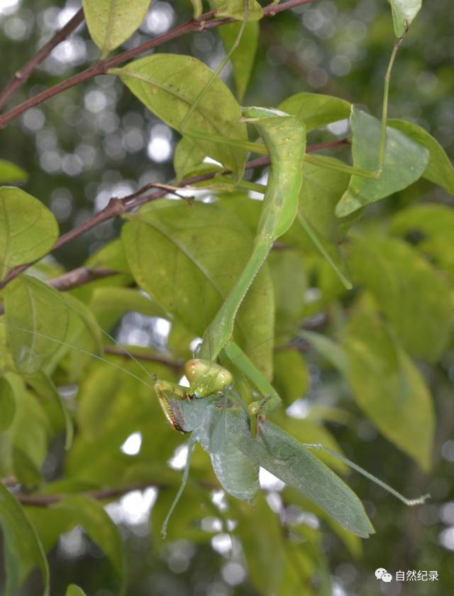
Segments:
[[[90,538],[106,553],[123,585],[125,569],[121,538],[116,525],[106,514],[104,506],[89,497],[70,495],[53,508],[71,512],[74,520],[83,526]],[[123,593],[123,589],[121,592]]]

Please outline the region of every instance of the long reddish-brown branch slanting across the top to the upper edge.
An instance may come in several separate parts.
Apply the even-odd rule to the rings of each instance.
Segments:
[[[292,9],[295,6],[301,6],[302,4],[309,4],[311,1],[312,0],[289,0],[282,4],[269,4],[268,6],[265,6],[265,9],[263,9],[263,14],[267,17],[275,16],[275,14],[279,12]],[[3,129],[6,124],[9,123],[9,121],[17,118],[31,107],[45,102],[47,99],[50,99],[50,97],[54,97],[55,95],[70,89],[70,87],[79,85],[81,82],[92,79],[93,77],[97,77],[99,75],[105,75],[109,68],[116,67],[120,64],[123,64],[127,60],[134,58],[136,55],[142,54],[153,48],[157,48],[157,46],[162,45],[162,43],[166,43],[167,41],[180,37],[186,33],[200,33],[201,31],[208,31],[209,29],[225,25],[226,23],[235,22],[233,18],[211,18],[215,13],[216,11],[204,13],[195,20],[191,19],[191,21],[187,21],[187,23],[179,25],[171,31],[167,31],[167,33],[163,33],[162,36],[157,36],[150,41],[146,41],[145,43],[138,45],[137,48],[133,48],[132,50],[118,54],[109,60],[99,60],[99,62],[97,62],[94,66],[87,68],[87,70],[79,72],[77,75],[74,75],[74,77],[70,77],[69,79],[58,83],[54,87],[50,87],[50,89],[46,89],[45,91],[36,94],[22,104],[10,109],[9,112],[6,112],[3,116],[0,116],[0,129]]]

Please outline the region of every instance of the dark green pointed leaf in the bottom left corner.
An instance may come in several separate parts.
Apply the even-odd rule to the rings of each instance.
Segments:
[[[9,490],[0,482],[0,524],[3,529],[5,596],[17,594],[25,579],[24,568],[38,567],[44,580],[43,596],[49,595],[49,568],[31,521]],[[37,593],[38,590],[36,590]]]

